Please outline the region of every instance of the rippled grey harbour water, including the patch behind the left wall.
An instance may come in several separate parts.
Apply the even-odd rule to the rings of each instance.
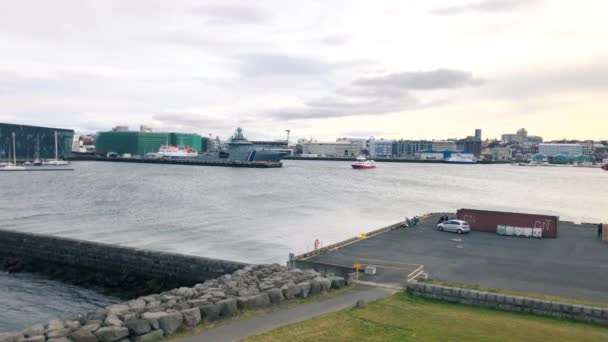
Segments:
[[[280,262],[425,212],[608,221],[608,173],[577,167],[285,161],[280,169],[75,162],[0,175],[0,228],[243,262]],[[0,273],[0,331],[114,301]],[[42,304],[41,304],[42,303]]]

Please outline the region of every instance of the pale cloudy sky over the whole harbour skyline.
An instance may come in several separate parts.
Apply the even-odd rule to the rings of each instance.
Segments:
[[[605,0],[0,2],[0,122],[608,139]]]

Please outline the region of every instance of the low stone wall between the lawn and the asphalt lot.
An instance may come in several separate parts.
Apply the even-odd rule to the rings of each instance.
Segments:
[[[608,325],[608,308],[553,302],[536,298],[510,296],[493,292],[467,290],[442,285],[412,282],[407,291],[420,297],[453,303],[484,306],[541,316],[573,319]]]

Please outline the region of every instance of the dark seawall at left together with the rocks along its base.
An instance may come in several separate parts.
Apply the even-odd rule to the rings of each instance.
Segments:
[[[2,269],[9,272],[46,273],[102,288],[137,287],[129,296],[193,285],[247,266],[235,261],[10,230],[0,230],[0,259]]]

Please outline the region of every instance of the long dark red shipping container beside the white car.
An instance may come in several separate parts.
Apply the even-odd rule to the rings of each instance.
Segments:
[[[549,215],[511,213],[477,209],[460,209],[456,217],[471,225],[471,230],[496,233],[498,225],[523,228],[542,228],[543,237],[556,238],[559,231],[559,217]]]

